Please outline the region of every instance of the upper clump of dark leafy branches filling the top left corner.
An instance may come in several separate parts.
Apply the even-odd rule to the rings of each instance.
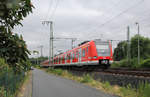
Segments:
[[[24,17],[32,12],[33,5],[30,0],[1,0],[0,1],[0,30],[11,29],[20,23]]]

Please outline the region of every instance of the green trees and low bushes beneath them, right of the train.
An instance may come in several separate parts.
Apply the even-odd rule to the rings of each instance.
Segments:
[[[150,67],[150,38],[139,36],[140,40],[140,65],[137,64],[138,57],[138,35],[135,35],[131,38],[130,41],[130,63],[127,61],[127,50],[128,43],[127,41],[122,41],[118,43],[117,47],[114,50],[114,61],[121,61],[120,65],[124,66],[134,66],[134,67]],[[138,66],[139,65],[139,66]]]

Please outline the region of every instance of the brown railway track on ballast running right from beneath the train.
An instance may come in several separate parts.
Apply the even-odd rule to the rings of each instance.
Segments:
[[[96,72],[96,73],[107,73],[113,75],[128,75],[136,77],[149,77],[150,78],[150,69],[129,69],[129,68],[87,68],[87,67],[72,67],[69,70],[79,71],[79,72]]]

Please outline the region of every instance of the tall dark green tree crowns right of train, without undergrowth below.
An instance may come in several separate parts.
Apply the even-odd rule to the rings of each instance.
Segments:
[[[142,59],[150,58],[150,39],[139,36],[140,39],[140,56]],[[131,58],[138,56],[138,35],[131,38]],[[114,59],[120,61],[127,57],[127,42],[120,42],[114,50]]]

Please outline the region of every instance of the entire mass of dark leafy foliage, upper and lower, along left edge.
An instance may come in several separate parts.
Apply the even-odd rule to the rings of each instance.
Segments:
[[[30,0],[0,1],[0,57],[4,58],[14,71],[26,70],[29,65],[29,51],[22,36],[12,34],[16,25],[32,12]]]

